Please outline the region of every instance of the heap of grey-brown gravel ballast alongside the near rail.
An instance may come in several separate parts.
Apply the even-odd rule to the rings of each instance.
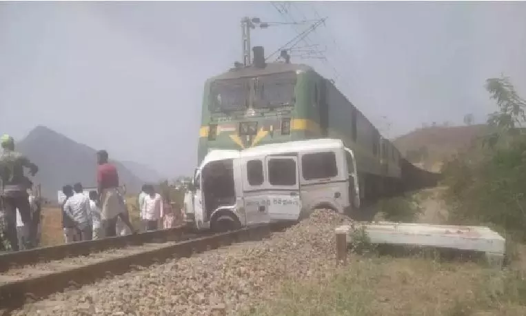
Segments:
[[[334,228],[350,219],[316,210],[269,239],[170,259],[26,304],[13,315],[212,315],[249,310],[285,279],[323,277],[335,266]]]

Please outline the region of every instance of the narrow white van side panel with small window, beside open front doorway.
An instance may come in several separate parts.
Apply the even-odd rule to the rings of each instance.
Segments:
[[[268,223],[270,221],[268,205],[270,199],[265,192],[265,171],[263,159],[241,159],[241,177],[243,179],[243,200],[245,225]]]

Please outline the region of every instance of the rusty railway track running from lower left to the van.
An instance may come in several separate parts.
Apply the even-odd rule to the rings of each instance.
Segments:
[[[68,288],[119,275],[170,257],[259,240],[281,224],[241,228],[227,233],[196,235],[182,227],[96,241],[45,247],[0,255],[0,308],[14,310]]]

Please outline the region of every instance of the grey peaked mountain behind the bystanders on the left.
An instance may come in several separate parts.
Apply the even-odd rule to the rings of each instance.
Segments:
[[[65,184],[80,181],[86,187],[97,186],[97,150],[93,148],[45,126],[34,128],[16,146],[17,150],[39,166],[39,172],[32,180],[35,184],[41,184],[42,196],[46,199],[55,201],[57,190]],[[113,162],[128,192],[139,192],[143,180],[119,161]]]

